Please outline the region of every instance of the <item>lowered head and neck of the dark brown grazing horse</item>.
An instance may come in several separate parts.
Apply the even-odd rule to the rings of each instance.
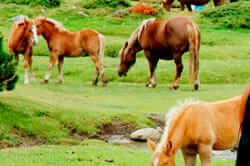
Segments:
[[[130,39],[125,42],[119,52],[120,66],[118,75],[126,76],[128,70],[136,62],[136,53],[141,50],[141,46],[138,43],[137,32],[134,32]]]

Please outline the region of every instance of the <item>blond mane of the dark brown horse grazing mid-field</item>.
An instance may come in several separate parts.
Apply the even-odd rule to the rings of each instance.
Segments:
[[[152,22],[155,21],[155,18],[150,18],[144,20],[141,25],[136,28],[136,30],[131,34],[130,38],[128,39],[128,45],[132,45],[136,40],[141,38],[143,30]]]

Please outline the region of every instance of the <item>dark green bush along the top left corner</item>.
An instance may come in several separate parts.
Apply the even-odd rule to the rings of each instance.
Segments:
[[[60,6],[62,0],[1,0],[4,3],[15,3],[18,5],[33,5],[33,6],[46,6],[57,7]]]

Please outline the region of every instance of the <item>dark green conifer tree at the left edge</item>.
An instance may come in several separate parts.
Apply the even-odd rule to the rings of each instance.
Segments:
[[[0,32],[0,91],[13,90],[18,81],[17,62],[3,50],[3,36]]]

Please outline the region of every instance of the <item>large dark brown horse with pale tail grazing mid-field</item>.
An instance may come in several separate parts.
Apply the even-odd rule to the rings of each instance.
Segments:
[[[176,76],[172,88],[179,87],[183,70],[182,55],[190,50],[189,79],[194,81],[194,89],[199,88],[199,49],[200,31],[198,26],[188,17],[174,17],[163,21],[145,20],[120,50],[119,76],[126,76],[129,68],[136,61],[136,53],[144,50],[149,62],[150,80],[148,87],[156,87],[155,69],[159,59],[174,60]]]

